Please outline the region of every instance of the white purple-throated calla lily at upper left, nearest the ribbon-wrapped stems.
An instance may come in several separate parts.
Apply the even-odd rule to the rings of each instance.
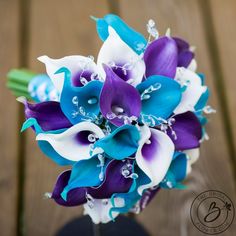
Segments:
[[[48,56],[38,57],[38,60],[43,62],[46,66],[47,74],[51,78],[53,84],[61,93],[64,76],[62,74],[55,74],[62,67],[66,67],[72,74],[72,83],[74,86],[82,86],[81,78],[90,81],[98,74],[96,64],[90,57],[83,56],[67,56],[60,59],[52,59]]]

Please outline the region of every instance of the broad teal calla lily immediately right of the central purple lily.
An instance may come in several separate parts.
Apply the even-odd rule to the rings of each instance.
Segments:
[[[159,118],[168,118],[181,100],[180,85],[168,77],[151,76],[137,89],[142,97],[142,114],[152,116],[155,124],[160,123]]]

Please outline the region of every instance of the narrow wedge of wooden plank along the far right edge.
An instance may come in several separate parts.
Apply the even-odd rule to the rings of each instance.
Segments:
[[[214,34],[217,53],[220,60],[220,70],[224,81],[225,96],[228,102],[231,132],[233,133],[234,164],[236,165],[236,2],[234,0],[210,0],[210,9],[213,18]]]

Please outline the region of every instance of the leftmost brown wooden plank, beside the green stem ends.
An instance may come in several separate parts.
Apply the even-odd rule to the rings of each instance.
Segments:
[[[15,235],[17,219],[18,105],[5,78],[11,67],[19,66],[18,10],[17,0],[0,1],[0,234],[4,236]]]

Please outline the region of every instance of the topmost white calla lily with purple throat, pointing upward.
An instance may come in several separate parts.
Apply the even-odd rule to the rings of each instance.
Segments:
[[[110,65],[112,70],[124,81],[136,86],[139,84],[145,72],[145,64],[142,58],[136,54],[116,33],[109,27],[109,37],[102,45],[97,64],[105,78],[103,64]]]

